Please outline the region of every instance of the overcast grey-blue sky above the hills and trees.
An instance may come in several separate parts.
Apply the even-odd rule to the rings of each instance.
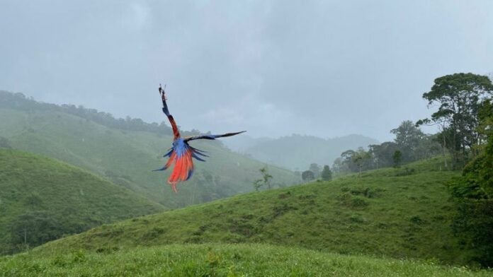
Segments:
[[[392,139],[493,71],[493,1],[0,0],[0,90],[251,136]]]

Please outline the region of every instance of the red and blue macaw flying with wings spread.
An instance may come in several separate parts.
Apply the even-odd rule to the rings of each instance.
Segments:
[[[166,86],[164,86],[166,88]],[[171,124],[171,128],[173,129],[173,146],[168,149],[168,153],[164,154],[163,157],[169,157],[168,161],[164,165],[164,167],[159,168],[158,170],[153,171],[162,171],[166,170],[168,167],[174,164],[173,172],[168,179],[168,184],[171,185],[171,188],[176,191],[176,184],[179,182],[184,182],[193,175],[193,158],[196,160],[200,160],[205,162],[203,157],[208,157],[205,154],[205,151],[198,150],[197,148],[193,148],[188,144],[189,141],[194,141],[196,139],[218,139],[224,138],[226,136],[234,136],[237,134],[242,134],[245,131],[239,131],[236,133],[227,133],[220,135],[199,135],[199,136],[188,136],[181,137],[178,126],[176,126],[176,122],[171,114],[169,114],[168,105],[166,105],[166,95],[164,95],[164,89],[159,85],[159,94],[161,95],[161,99],[163,102],[163,112],[168,117],[169,123]]]

